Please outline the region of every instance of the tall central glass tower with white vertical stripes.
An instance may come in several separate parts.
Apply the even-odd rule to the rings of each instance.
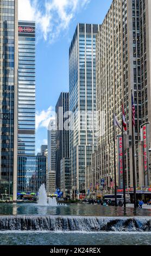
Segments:
[[[71,42],[70,58],[70,161],[72,196],[85,192],[85,167],[95,151],[96,34],[98,25],[78,24]],[[89,114],[88,114],[89,113]],[[90,127],[91,126],[91,127]]]

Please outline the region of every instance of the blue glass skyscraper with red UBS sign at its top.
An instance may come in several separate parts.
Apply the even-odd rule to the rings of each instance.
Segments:
[[[18,22],[18,155],[35,155],[35,22]]]

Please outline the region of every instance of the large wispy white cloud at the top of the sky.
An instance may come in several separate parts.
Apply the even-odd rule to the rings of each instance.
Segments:
[[[20,20],[35,20],[37,31],[45,40],[53,42],[66,31],[77,11],[91,0],[18,0]]]

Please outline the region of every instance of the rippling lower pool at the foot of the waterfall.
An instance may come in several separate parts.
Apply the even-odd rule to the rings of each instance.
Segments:
[[[0,231],[0,245],[151,245],[150,233]]]

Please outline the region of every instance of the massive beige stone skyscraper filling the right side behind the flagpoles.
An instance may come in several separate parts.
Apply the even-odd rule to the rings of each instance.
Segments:
[[[128,133],[127,139],[125,139],[127,143],[122,145],[125,148],[125,183],[126,187],[133,191],[131,89],[133,89],[135,105],[136,185],[141,190],[143,186],[148,190],[151,184],[148,161],[151,126],[147,124],[148,121],[151,121],[150,14],[151,3],[148,0],[114,0],[97,35],[97,109],[100,112],[105,111],[106,114],[105,133],[99,137],[99,150],[96,157],[98,162],[93,163],[92,169],[95,168],[95,172],[96,167],[99,169],[97,179],[99,182],[101,179],[104,180],[104,191],[110,190],[110,178],[114,179],[113,114],[115,111],[118,121],[122,121],[122,98]],[[101,121],[99,119],[99,125]],[[143,131],[143,136],[141,136],[141,131]],[[120,134],[121,132],[117,128],[116,135]],[[121,147],[119,140],[120,137],[117,137],[117,185],[118,188],[123,188],[123,166],[119,159]],[[87,169],[88,173],[89,168]],[[90,178],[93,175],[91,173],[88,176]],[[87,188],[90,187],[91,182],[93,182],[92,179],[87,182]]]

